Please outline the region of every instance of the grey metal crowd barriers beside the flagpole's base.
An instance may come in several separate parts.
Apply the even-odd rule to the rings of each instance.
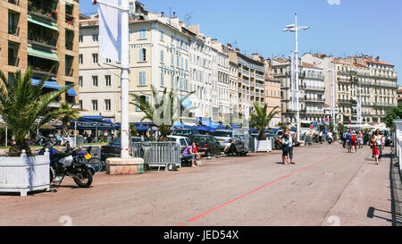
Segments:
[[[180,145],[175,142],[136,142],[132,144],[132,155],[144,159],[147,167],[164,167],[169,171],[169,165],[181,166]]]

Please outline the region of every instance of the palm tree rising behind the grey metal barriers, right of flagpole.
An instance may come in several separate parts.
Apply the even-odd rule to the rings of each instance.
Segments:
[[[130,102],[130,104],[137,106],[138,109],[145,114],[141,122],[147,120],[155,123],[155,126],[161,133],[158,139],[159,141],[169,141],[167,135],[174,122],[177,122],[182,114],[186,114],[189,110],[194,108],[190,107],[184,109],[182,104],[190,95],[194,94],[195,91],[189,92],[186,96],[182,97],[182,99],[178,99],[178,92],[173,88],[171,88],[169,93],[167,92],[167,88],[164,88],[162,97],[158,97],[158,91],[153,85],[151,85],[151,91],[153,103],[149,103],[144,96],[131,94],[133,101]],[[178,110],[179,105],[180,110]]]

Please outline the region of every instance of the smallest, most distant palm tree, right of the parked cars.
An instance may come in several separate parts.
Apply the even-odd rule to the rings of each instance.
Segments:
[[[265,140],[264,133],[265,128],[268,126],[272,118],[279,114],[276,111],[279,106],[275,106],[270,113],[268,113],[268,105],[260,106],[257,103],[254,104],[255,113],[250,114],[250,126],[258,130],[258,140]]]

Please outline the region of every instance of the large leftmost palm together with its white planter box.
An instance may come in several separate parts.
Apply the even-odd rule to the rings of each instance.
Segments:
[[[28,191],[49,189],[49,156],[32,155],[28,134],[63,114],[63,109],[51,110],[49,104],[71,86],[42,94],[48,76],[33,86],[29,67],[23,76],[16,72],[11,85],[0,71],[0,116],[13,135],[8,156],[0,156],[0,192],[21,192],[26,196]]]

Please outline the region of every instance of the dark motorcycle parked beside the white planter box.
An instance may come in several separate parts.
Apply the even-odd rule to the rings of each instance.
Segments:
[[[54,149],[54,143],[45,140],[39,155],[44,155],[46,148],[50,154],[50,183],[59,181],[60,186],[64,177],[69,176],[81,188],[88,188],[92,184],[95,170],[80,160],[86,156],[85,152],[80,151],[80,148],[71,150],[70,147],[67,147],[63,152],[57,151]]]

